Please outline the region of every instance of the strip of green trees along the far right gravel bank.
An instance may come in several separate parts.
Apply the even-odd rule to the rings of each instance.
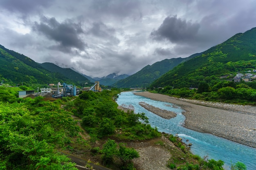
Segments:
[[[212,87],[201,83],[196,89],[172,86],[151,89],[152,93],[166,94],[177,98],[189,98],[214,102],[225,102],[240,105],[256,105],[256,82],[234,83],[234,81],[220,81]]]

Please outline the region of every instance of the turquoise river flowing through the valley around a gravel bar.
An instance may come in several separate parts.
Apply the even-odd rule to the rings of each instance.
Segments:
[[[159,132],[178,135],[182,141],[191,146],[191,152],[201,157],[207,156],[208,159],[222,160],[225,162],[225,169],[230,169],[231,161],[243,162],[247,166],[247,170],[256,170],[256,149],[236,142],[229,141],[224,138],[216,137],[207,133],[199,133],[182,126],[185,116],[182,115],[182,109],[177,105],[167,102],[161,102],[138,96],[133,92],[122,92],[117,98],[117,104],[123,106],[133,106],[135,113],[145,113],[152,127],[157,127]],[[175,118],[169,120],[161,118],[154,113],[144,109],[139,102],[145,102],[160,109],[173,111],[177,114]],[[186,142],[186,140],[189,140]]]

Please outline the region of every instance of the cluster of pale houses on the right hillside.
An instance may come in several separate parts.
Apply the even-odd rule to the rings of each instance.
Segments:
[[[245,81],[245,82],[251,82],[251,81],[256,81],[256,74],[252,74],[252,71],[248,71],[248,73],[242,74],[238,73],[234,78],[228,79],[229,81],[234,81],[234,82],[240,82],[240,81]],[[256,72],[256,70],[253,70],[253,72]],[[220,78],[228,78],[230,75],[225,75],[221,76]]]

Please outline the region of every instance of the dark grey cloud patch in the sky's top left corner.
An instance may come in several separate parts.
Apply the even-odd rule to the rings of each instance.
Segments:
[[[40,7],[49,7],[54,0],[0,0],[0,6],[11,12],[27,14]]]

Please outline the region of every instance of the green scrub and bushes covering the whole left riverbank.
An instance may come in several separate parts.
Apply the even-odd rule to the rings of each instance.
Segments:
[[[57,150],[113,169],[134,169],[132,159],[139,154],[125,143],[154,139],[154,146],[165,146],[161,133],[148,124],[144,113],[117,109],[113,98],[118,97],[119,89],[83,92],[57,100],[40,96],[20,99],[16,93],[13,87],[0,87],[1,169],[75,169],[74,163]],[[72,118],[73,114],[78,120]],[[221,164],[202,161],[191,155],[178,137],[166,137],[175,146],[169,150],[169,168],[214,169]]]

